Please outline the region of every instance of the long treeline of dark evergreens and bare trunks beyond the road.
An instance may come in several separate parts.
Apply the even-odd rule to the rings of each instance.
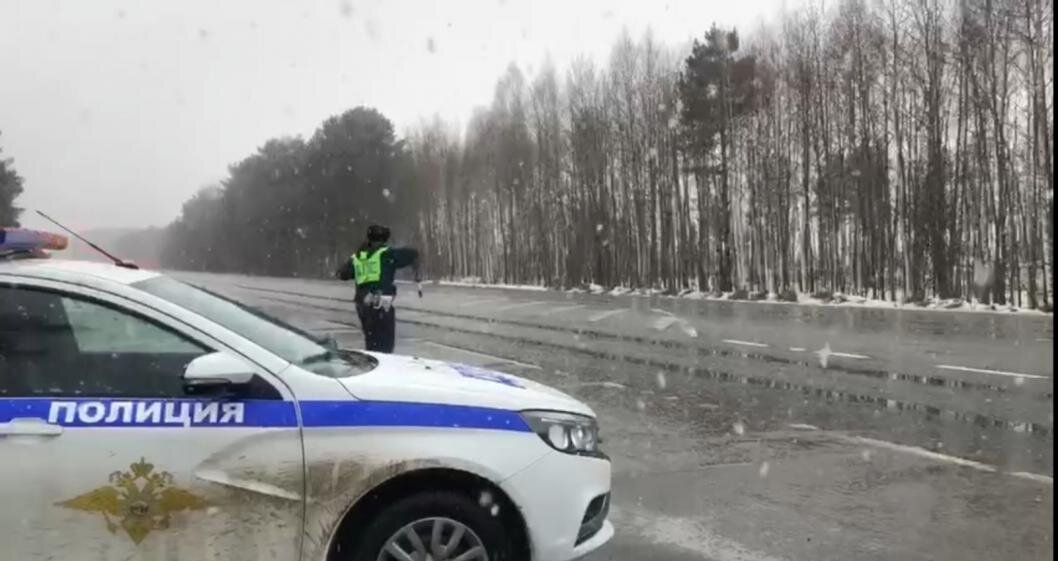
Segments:
[[[511,66],[463,129],[357,108],[185,203],[163,264],[328,274],[368,222],[433,277],[1050,306],[1050,0],[842,0],[685,50]]]

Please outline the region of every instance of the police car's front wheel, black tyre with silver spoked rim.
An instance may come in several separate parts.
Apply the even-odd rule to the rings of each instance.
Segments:
[[[398,501],[368,523],[352,561],[510,561],[496,505],[436,491]]]

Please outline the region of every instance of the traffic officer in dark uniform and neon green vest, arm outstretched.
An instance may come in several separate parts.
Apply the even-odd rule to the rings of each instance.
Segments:
[[[389,229],[372,224],[364,241],[349,260],[338,270],[342,280],[357,283],[357,315],[364,330],[364,347],[377,352],[393,352],[396,343],[397,314],[394,298],[398,269],[412,267],[420,283],[419,252],[412,248],[390,248]],[[422,292],[419,292],[420,297]]]

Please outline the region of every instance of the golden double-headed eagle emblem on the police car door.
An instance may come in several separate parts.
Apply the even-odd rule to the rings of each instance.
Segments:
[[[144,458],[129,466],[127,471],[110,474],[110,485],[105,485],[57,506],[99,512],[111,533],[118,529],[139,544],[154,530],[169,527],[174,512],[201,510],[208,503],[199,496],[172,485],[172,474],[154,471],[154,465]]]

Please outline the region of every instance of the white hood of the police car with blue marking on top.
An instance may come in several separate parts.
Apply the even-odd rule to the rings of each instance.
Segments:
[[[368,354],[378,359],[376,368],[339,380],[358,399],[565,411],[595,417],[590,408],[569,395],[517,376],[455,362]]]

